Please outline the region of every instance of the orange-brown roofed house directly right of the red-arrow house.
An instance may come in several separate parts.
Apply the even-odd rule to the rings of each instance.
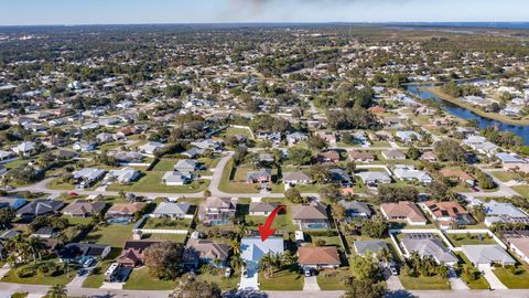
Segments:
[[[298,263],[302,268],[334,269],[341,260],[335,246],[302,246],[298,248]]]

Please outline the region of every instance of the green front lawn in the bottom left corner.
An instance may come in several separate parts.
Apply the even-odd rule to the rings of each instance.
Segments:
[[[45,264],[45,263],[58,263],[57,258],[53,258],[50,260],[44,260],[40,264]],[[33,266],[33,263],[22,265],[19,268],[24,268],[24,267],[30,267]],[[67,272],[60,274],[57,276],[48,276],[44,275],[41,273],[35,273],[35,275],[30,276],[30,277],[19,277],[17,276],[17,269],[11,269],[8,272],[8,274],[1,279],[3,283],[14,283],[14,284],[31,284],[31,285],[56,285],[56,284],[63,284],[66,285],[72,279],[75,277],[76,272],[75,269],[68,269]]]

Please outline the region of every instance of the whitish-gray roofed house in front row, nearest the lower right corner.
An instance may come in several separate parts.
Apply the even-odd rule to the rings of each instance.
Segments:
[[[481,269],[489,268],[494,264],[503,266],[516,264],[516,260],[497,244],[463,245],[461,251],[474,266]]]

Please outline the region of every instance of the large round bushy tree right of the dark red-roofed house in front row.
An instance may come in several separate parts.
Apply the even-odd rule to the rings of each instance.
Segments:
[[[160,242],[145,249],[145,266],[160,279],[174,279],[182,274],[183,247],[174,242]]]

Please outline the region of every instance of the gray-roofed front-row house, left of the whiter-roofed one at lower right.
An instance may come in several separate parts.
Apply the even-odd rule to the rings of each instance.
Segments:
[[[440,238],[408,238],[401,242],[406,256],[417,252],[421,257],[430,256],[438,264],[453,266],[457,264],[457,257],[444,246]]]

